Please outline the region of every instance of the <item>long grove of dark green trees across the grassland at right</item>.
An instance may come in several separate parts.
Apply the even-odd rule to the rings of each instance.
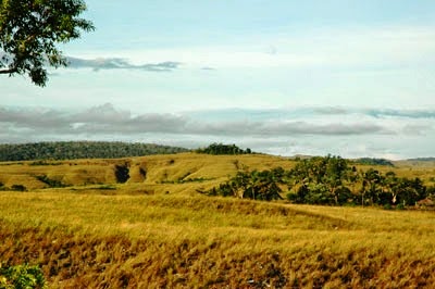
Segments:
[[[233,196],[256,200],[282,199],[293,203],[323,205],[381,205],[405,208],[435,197],[435,187],[420,178],[398,177],[394,172],[358,171],[339,156],[302,160],[289,171],[281,167],[262,172],[238,172],[228,181],[207,191],[210,196]]]

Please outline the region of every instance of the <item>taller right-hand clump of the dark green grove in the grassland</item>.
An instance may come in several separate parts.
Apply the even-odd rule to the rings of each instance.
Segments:
[[[300,161],[290,176],[287,199],[295,203],[405,208],[427,197],[419,178],[399,178],[394,172],[383,175],[374,168],[358,172],[339,156]]]

